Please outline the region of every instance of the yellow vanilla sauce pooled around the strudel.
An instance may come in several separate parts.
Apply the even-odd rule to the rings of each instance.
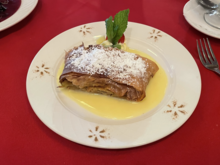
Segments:
[[[152,57],[143,52],[133,49],[128,49],[127,51],[147,57],[156,62]],[[98,116],[118,120],[137,117],[155,108],[165,95],[168,78],[164,69],[159,64],[157,65],[159,66],[159,70],[150,80],[146,89],[146,97],[140,102],[132,102],[111,96],[87,93],[78,90],[61,90],[67,97]],[[62,74],[63,68],[64,63],[60,66],[57,73],[57,86],[60,85],[59,77]]]

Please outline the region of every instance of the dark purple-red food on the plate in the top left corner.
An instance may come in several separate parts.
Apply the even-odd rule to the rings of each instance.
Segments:
[[[19,9],[20,5],[21,0],[0,0],[0,22],[11,17]]]

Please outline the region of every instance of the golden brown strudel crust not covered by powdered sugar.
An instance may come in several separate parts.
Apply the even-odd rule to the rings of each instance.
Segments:
[[[84,45],[80,45],[79,47],[83,47],[84,50],[89,50],[90,48],[105,49],[106,51],[113,50],[113,48],[103,48],[102,46],[100,47],[100,45],[93,45],[87,48],[85,48]],[[68,59],[72,56],[71,52],[79,47],[71,49],[65,55],[65,68],[59,79],[62,86],[125,98],[131,101],[141,101],[145,98],[146,87],[151,77],[153,77],[159,69],[156,63],[147,58],[136,55],[137,58],[141,58],[146,64],[146,72],[144,73],[144,76],[141,77],[129,75],[129,78],[120,78],[114,77],[110,74],[88,74],[76,67],[67,67],[67,65],[69,65]],[[117,48],[114,50],[116,49]],[[121,52],[123,53],[123,51]]]

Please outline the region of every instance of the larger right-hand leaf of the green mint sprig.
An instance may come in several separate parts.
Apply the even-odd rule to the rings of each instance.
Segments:
[[[118,43],[128,25],[129,9],[118,12],[114,17],[114,27],[118,26],[118,30],[112,39],[113,45]]]

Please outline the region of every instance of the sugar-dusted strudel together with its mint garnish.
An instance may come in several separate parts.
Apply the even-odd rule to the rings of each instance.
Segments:
[[[131,101],[141,101],[146,87],[158,71],[157,64],[135,53],[122,50],[129,10],[106,19],[106,41],[74,47],[65,55],[59,78],[61,87],[101,93]],[[100,40],[100,37],[96,37]]]

